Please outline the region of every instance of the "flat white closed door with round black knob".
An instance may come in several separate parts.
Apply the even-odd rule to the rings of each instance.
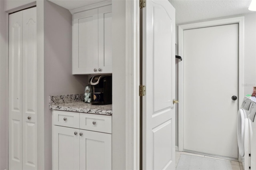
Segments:
[[[238,158],[238,24],[183,32],[183,148]]]

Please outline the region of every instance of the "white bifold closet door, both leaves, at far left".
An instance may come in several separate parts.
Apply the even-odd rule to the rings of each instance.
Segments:
[[[9,16],[9,109],[9,169],[36,170],[36,8]]]

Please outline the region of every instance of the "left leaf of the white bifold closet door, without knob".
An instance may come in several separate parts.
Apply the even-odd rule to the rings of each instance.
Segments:
[[[22,169],[22,11],[9,15],[9,169]]]

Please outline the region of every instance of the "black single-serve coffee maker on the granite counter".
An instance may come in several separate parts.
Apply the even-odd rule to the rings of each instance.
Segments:
[[[92,105],[112,104],[112,75],[95,75],[90,79]]]

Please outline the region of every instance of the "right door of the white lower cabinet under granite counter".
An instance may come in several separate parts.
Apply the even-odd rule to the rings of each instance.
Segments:
[[[89,130],[80,132],[80,170],[111,170],[112,134]]]

